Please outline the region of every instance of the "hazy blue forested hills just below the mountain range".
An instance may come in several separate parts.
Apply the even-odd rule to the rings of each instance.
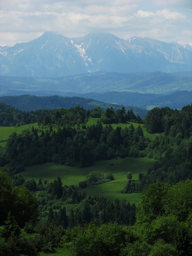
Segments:
[[[85,100],[78,103],[80,99],[73,99],[74,104],[76,102],[86,109],[94,105],[94,101],[147,109],[150,109],[151,106],[169,106],[170,108],[180,109],[192,103],[192,76],[188,72],[134,74],[98,72],[59,78],[0,76],[0,96],[18,96],[22,94],[76,96],[92,99],[92,102],[86,103]],[[6,101],[6,104],[9,103]],[[71,106],[75,106],[74,104]],[[24,102],[22,103],[22,110],[27,110],[27,104],[24,107],[23,105]],[[34,104],[31,103],[31,105]],[[54,107],[56,105],[60,107],[59,102],[58,104],[54,102]],[[20,108],[21,105],[16,107]],[[107,107],[108,105],[102,106],[102,108]],[[45,108],[45,104],[43,103],[40,108]],[[50,108],[49,103],[46,108]],[[31,110],[31,108],[28,108],[28,110]]]

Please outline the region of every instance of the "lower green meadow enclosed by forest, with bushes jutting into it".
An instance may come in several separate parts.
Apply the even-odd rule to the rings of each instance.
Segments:
[[[64,166],[60,164],[41,164],[28,166],[21,173],[25,178],[33,178],[38,182],[39,178],[53,181],[60,176],[63,185],[78,185],[80,181],[85,180],[86,176],[93,171],[111,172],[115,180],[99,185],[88,186],[84,189],[86,194],[90,196],[104,196],[108,200],[114,201],[118,198],[120,201],[127,200],[136,205],[140,202],[140,194],[122,194],[120,191],[124,188],[126,182],[126,174],[128,171],[132,173],[134,180],[138,180],[140,172],[146,173],[148,168],[154,166],[155,160],[149,158],[117,158],[113,160],[99,161],[94,166],[86,168],[78,168]],[[113,164],[113,165],[112,165]]]

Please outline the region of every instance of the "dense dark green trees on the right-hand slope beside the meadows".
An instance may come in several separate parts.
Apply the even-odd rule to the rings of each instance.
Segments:
[[[148,156],[159,159],[142,184],[157,181],[175,184],[192,178],[192,105],[182,110],[154,108],[144,120],[149,132],[162,132],[148,145]]]

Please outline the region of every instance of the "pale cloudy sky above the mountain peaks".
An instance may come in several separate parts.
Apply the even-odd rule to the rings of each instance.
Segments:
[[[0,45],[57,31],[69,38],[110,32],[192,46],[192,0],[0,0]]]

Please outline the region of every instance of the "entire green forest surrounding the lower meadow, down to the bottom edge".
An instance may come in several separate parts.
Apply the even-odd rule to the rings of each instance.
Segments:
[[[88,126],[89,118],[98,121]],[[142,119],[124,107],[23,112],[1,103],[0,126],[24,124],[30,129],[0,147],[0,255],[52,253],[58,246],[78,256],[192,255],[192,105],[153,108]],[[138,180],[128,173],[120,191],[142,192],[137,207],[82,192],[110,182],[111,173],[92,172],[78,186],[59,176],[36,182],[20,174],[35,164],[84,168],[130,156],[156,159]]]

